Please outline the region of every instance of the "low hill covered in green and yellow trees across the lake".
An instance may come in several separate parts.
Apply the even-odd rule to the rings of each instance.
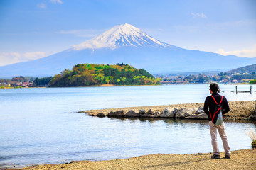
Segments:
[[[136,69],[129,64],[77,64],[72,70],[65,69],[50,81],[51,87],[92,86],[99,84],[151,85],[159,84],[161,79],[154,77],[145,69]]]

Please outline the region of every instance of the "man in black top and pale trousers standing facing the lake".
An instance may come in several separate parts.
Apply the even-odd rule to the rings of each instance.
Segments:
[[[225,158],[230,159],[230,147],[228,145],[228,138],[225,132],[225,125],[222,123],[221,125],[215,125],[213,120],[213,113],[215,111],[215,107],[217,104],[220,104],[221,108],[223,109],[223,114],[228,113],[230,108],[228,106],[228,101],[225,96],[220,96],[218,94],[220,92],[220,88],[218,84],[212,83],[210,84],[210,94],[211,96],[206,97],[206,101],[203,106],[203,111],[208,115],[209,126],[210,126],[210,136],[213,145],[213,156],[212,159],[220,159],[220,151],[218,149],[218,142],[217,142],[217,130],[220,134],[221,140],[223,141],[223,147],[225,150]],[[216,104],[217,103],[217,104]],[[216,116],[216,115],[215,115]]]

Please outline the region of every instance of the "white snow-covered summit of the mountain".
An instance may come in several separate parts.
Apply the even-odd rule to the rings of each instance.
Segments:
[[[136,28],[128,23],[114,26],[110,30],[98,35],[95,38],[82,42],[79,45],[74,45],[75,50],[83,50],[86,48],[117,48],[122,46],[156,46],[156,47],[170,47],[171,45],[156,40],[144,33],[139,28]]]

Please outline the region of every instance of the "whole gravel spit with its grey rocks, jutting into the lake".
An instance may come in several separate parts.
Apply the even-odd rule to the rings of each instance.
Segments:
[[[230,101],[230,112],[225,120],[256,120],[256,101]],[[207,120],[203,103],[188,103],[165,106],[142,106],[82,111],[85,115],[110,118],[181,118]]]

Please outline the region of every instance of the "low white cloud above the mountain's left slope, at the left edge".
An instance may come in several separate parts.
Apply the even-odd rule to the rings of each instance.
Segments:
[[[28,60],[36,60],[46,57],[45,52],[1,52],[0,53],[0,66],[14,64],[16,62],[26,62]]]

